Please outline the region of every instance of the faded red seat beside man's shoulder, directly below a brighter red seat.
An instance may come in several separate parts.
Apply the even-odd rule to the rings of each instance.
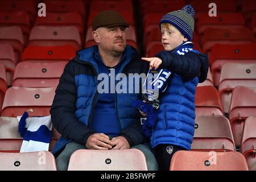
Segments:
[[[21,62],[16,66],[12,86],[44,88],[55,87],[67,62],[31,63]]]

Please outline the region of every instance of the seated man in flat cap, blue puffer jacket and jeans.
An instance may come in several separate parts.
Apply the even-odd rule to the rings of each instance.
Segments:
[[[116,11],[102,11],[92,22],[97,46],[82,49],[69,61],[60,77],[51,107],[53,126],[61,134],[53,154],[57,169],[67,170],[69,158],[79,149],[123,150],[137,148],[146,157],[148,170],[158,169],[154,154],[144,145],[138,110],[132,102],[141,93],[112,92],[118,80],[98,87],[98,76],[146,73],[136,49],[126,46],[129,24]],[[134,85],[129,85],[134,86]],[[101,92],[107,90],[109,92]],[[131,159],[132,160],[132,159]]]

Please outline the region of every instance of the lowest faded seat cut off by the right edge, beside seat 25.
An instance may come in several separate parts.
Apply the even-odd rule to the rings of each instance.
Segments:
[[[246,158],[250,171],[256,171],[256,115],[252,115],[245,120],[241,152]]]

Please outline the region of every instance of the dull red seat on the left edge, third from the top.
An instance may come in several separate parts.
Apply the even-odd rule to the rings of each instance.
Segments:
[[[20,27],[0,27],[0,43],[10,44],[14,49],[15,63],[20,60],[20,55],[23,51],[23,35]]]

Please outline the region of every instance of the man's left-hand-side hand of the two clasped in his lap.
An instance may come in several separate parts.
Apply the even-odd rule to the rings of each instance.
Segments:
[[[103,133],[94,133],[90,135],[86,142],[86,148],[97,150],[109,150],[112,149],[114,143],[110,141],[108,135]]]

